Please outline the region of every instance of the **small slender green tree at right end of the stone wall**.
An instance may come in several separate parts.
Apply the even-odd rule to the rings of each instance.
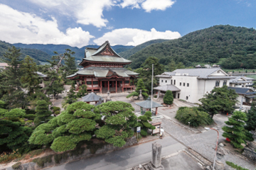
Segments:
[[[138,124],[137,126],[141,127],[141,135],[146,136],[147,130],[154,130],[156,127],[154,125],[151,125],[149,121],[152,121],[151,119],[152,113],[150,111],[146,111],[144,115],[140,115],[138,118]]]

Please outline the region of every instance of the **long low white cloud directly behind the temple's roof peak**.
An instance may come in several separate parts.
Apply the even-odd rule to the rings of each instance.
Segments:
[[[105,33],[101,38],[97,38],[93,42],[97,45],[102,45],[106,40],[109,40],[111,45],[140,45],[149,40],[166,39],[172,40],[180,38],[181,34],[166,30],[165,32],[157,31],[155,28],[148,30],[139,30],[136,28],[121,28]]]

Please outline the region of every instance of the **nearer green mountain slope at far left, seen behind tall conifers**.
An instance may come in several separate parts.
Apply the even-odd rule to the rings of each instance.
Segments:
[[[1,60],[1,57],[6,53],[8,48],[11,48],[12,46],[13,45],[11,45],[10,43],[0,40],[0,60]],[[26,57],[26,55],[29,55],[30,57],[33,58],[36,64],[40,64],[40,62],[46,62],[46,60],[50,60],[51,58],[50,55],[48,55],[46,52],[43,52],[41,50],[28,49],[28,48],[20,48],[20,49],[21,49],[21,60],[23,60]]]

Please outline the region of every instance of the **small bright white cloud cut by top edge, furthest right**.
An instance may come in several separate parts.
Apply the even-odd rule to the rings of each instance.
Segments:
[[[142,8],[144,8],[146,12],[150,12],[152,10],[164,11],[173,4],[174,1],[172,0],[146,0],[142,3]]]

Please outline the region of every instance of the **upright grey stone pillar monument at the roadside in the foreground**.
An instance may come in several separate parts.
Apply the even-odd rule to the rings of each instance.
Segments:
[[[149,164],[144,165],[145,169],[164,170],[164,166],[161,165],[161,147],[159,143],[152,144],[152,159]]]

